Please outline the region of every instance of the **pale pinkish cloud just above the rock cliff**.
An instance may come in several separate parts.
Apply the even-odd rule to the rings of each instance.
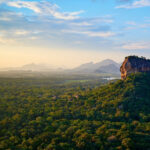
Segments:
[[[150,44],[148,42],[127,43],[124,44],[122,48],[127,50],[143,50],[150,49]]]

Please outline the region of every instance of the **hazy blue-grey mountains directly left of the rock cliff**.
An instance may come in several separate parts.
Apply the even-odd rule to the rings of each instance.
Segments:
[[[89,62],[82,64],[77,68],[72,69],[73,72],[80,73],[110,73],[110,74],[120,74],[119,63],[106,59],[98,63]]]

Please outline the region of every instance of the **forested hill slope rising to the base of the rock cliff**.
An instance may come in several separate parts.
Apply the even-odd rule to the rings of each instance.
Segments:
[[[131,74],[125,80],[118,80],[104,87],[94,89],[89,94],[91,98],[98,98],[95,101],[96,106],[100,102],[103,105],[102,109],[111,113],[115,119],[117,119],[115,117],[117,110],[124,113],[128,112],[130,114],[128,121],[130,122],[130,119],[142,119],[141,114],[143,116],[149,115],[147,121],[150,121],[149,91],[150,74],[136,73]],[[127,118],[125,120],[127,121]]]

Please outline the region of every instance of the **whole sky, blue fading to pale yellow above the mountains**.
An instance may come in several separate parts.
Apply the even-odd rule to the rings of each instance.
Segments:
[[[150,58],[150,0],[0,0],[0,67]]]

